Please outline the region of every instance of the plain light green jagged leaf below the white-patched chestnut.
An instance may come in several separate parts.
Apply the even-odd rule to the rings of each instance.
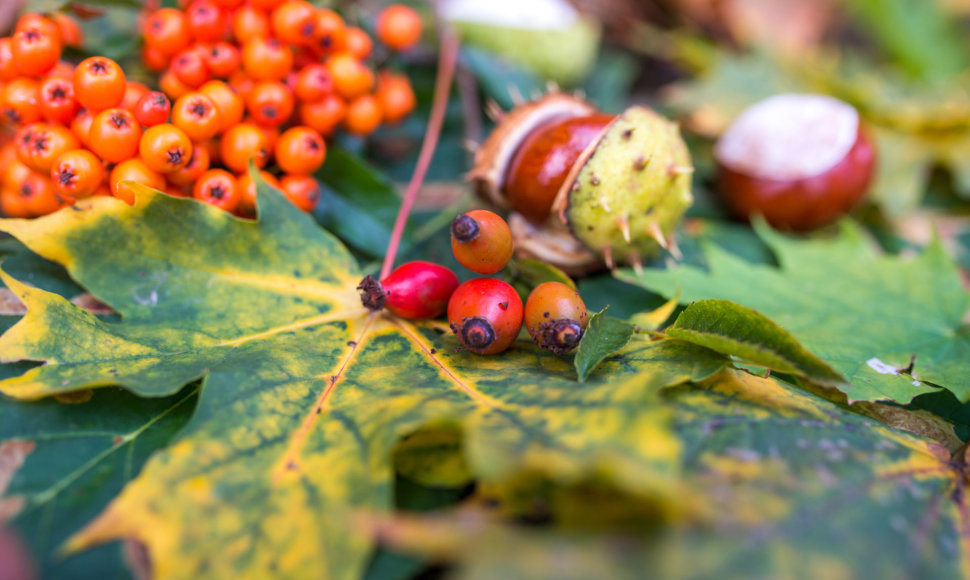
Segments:
[[[938,241],[913,259],[879,255],[857,226],[796,240],[757,225],[779,267],[715,245],[710,270],[680,266],[621,277],[681,301],[732,300],[771,317],[846,377],[849,399],[908,403],[939,385],[970,399],[970,295]],[[911,367],[911,368],[910,368]]]

